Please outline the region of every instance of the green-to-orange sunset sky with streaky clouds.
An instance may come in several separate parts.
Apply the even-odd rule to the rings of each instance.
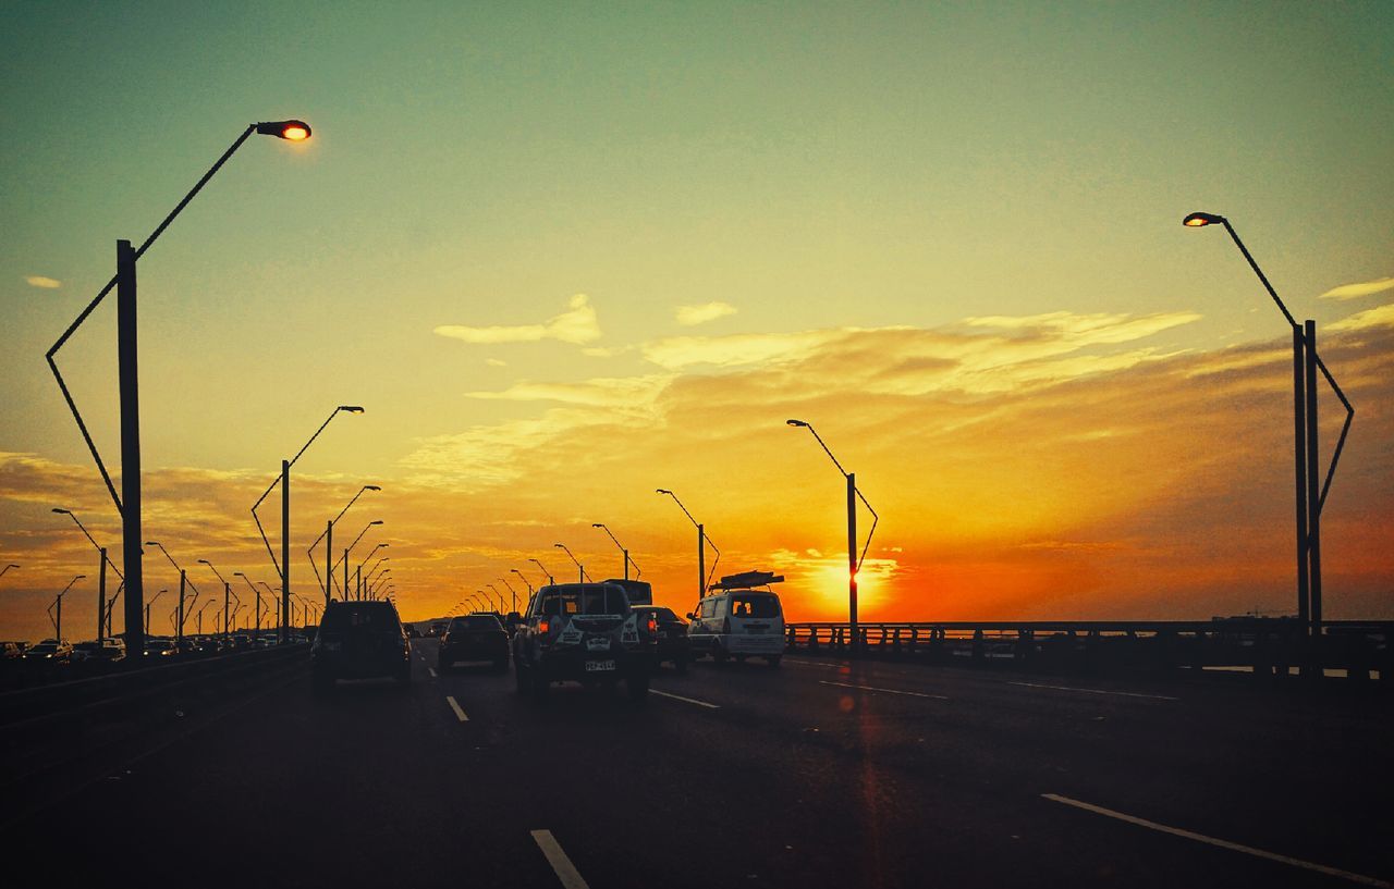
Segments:
[[[95,631],[120,520],[43,360],[142,256],[144,525],[201,589],[336,541],[408,619],[509,578],[863,620],[1295,608],[1288,333],[1356,407],[1326,613],[1394,617],[1387,3],[4,3],[0,638]],[[57,355],[120,468],[114,300]],[[1322,394],[1323,465],[1340,428]],[[263,507],[282,532],[279,502]],[[870,514],[859,516],[859,543]],[[279,549],[277,549],[279,550]],[[321,559],[322,559],[322,550]],[[710,560],[708,555],[708,560]],[[162,553],[146,598],[176,589]],[[169,594],[166,594],[169,595]],[[173,596],[170,596],[173,598]],[[167,627],[170,599],[152,628]],[[71,621],[71,623],[70,623]],[[120,623],[120,619],[118,619]],[[70,628],[75,627],[75,628]]]

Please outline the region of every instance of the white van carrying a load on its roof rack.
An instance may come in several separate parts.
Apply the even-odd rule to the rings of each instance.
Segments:
[[[712,584],[715,592],[703,596],[687,614],[693,655],[711,655],[718,663],[757,656],[779,666],[785,649],[783,606],[769,584],[782,580],[769,571],[744,571]],[[758,585],[765,588],[756,589]]]

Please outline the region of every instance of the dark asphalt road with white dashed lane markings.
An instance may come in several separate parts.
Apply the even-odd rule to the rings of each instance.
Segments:
[[[790,656],[665,669],[647,705],[577,686],[537,704],[512,673],[436,676],[434,640],[413,660],[407,691],[318,699],[298,670],[181,705],[11,822],[6,869],[88,886],[1394,879],[1394,718],[1369,694]]]

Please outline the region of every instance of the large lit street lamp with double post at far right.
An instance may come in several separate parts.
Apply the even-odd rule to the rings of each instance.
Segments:
[[[1202,229],[1204,226],[1224,226],[1230,233],[1235,247],[1249,262],[1249,268],[1259,276],[1263,288],[1273,297],[1273,302],[1288,319],[1292,329],[1292,458],[1294,458],[1294,490],[1296,500],[1296,553],[1298,553],[1298,621],[1302,624],[1303,635],[1320,638],[1322,635],[1322,507],[1326,506],[1326,495],[1331,489],[1331,477],[1335,475],[1335,464],[1341,458],[1341,449],[1345,447],[1345,436],[1351,431],[1351,421],[1355,418],[1355,408],[1335,383],[1326,362],[1316,351],[1316,322],[1306,319],[1298,325],[1292,312],[1278,298],[1278,293],[1269,283],[1267,276],[1255,262],[1249,248],[1239,240],[1239,234],[1230,224],[1230,220],[1216,213],[1190,213],[1181,224],[1188,229]],[[1345,407],[1345,422],[1341,425],[1341,435],[1335,442],[1335,451],[1331,454],[1331,464],[1326,471],[1326,481],[1317,490],[1317,403],[1316,403],[1316,372],[1322,371],[1331,392]],[[1316,665],[1306,665],[1313,676],[1320,676]]]

